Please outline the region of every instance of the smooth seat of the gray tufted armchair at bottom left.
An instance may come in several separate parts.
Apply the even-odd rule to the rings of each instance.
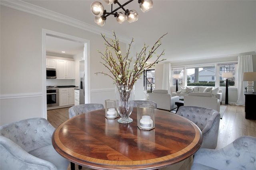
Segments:
[[[58,152],[56,152],[56,150],[52,145],[31,150],[28,153],[32,154],[33,156],[36,156],[37,158],[41,158],[43,160],[52,162],[57,167],[58,170],[64,170],[70,164],[68,160],[66,160],[64,157],[60,156]]]

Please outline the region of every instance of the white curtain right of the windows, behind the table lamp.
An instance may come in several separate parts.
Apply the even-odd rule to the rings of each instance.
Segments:
[[[243,73],[253,72],[252,55],[238,56],[238,78],[237,78],[237,102],[236,105],[244,106],[244,87],[247,82],[243,82]]]

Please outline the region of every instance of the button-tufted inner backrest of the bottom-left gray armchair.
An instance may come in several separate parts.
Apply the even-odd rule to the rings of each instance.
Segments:
[[[12,140],[27,152],[52,145],[55,128],[44,118],[32,118],[0,127],[1,136]]]

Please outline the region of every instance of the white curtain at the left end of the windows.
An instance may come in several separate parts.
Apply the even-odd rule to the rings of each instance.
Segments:
[[[171,63],[164,63],[162,89],[171,94]]]

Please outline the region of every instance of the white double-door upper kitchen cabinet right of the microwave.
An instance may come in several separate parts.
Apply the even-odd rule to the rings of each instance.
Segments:
[[[57,79],[75,79],[74,61],[56,60]]]

